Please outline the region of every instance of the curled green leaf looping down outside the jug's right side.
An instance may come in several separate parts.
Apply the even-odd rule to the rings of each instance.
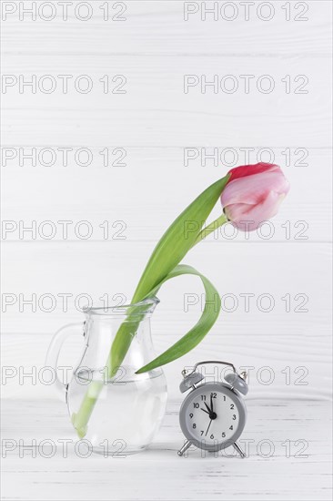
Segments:
[[[151,295],[156,295],[157,291],[165,281],[185,274],[197,275],[203,282],[206,291],[204,311],[202,312],[199,321],[190,331],[187,332],[187,334],[177,341],[177,343],[173,344],[168,350],[166,350],[166,352],[159,355],[155,360],[147,363],[144,367],[141,367],[141,369],[136,371],[137,374],[152,371],[156,367],[170,363],[193,350],[193,348],[195,348],[197,344],[204,339],[207,332],[210,331],[214,323],[217,321],[217,317],[221,309],[221,300],[216,288],[204,275],[199,273],[195,268],[192,268],[192,266],[187,266],[187,264],[180,264],[176,266],[176,268],[150,292]]]

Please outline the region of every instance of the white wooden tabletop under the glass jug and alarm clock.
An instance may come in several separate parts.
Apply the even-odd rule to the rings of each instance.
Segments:
[[[241,444],[249,455],[244,460],[226,453],[201,457],[197,450],[178,457],[183,441],[178,408],[179,402],[168,404],[162,428],[146,452],[85,458],[75,453],[76,436],[61,403],[5,401],[3,499],[331,499],[330,403],[248,400]],[[34,452],[19,447],[20,440],[32,445],[34,439]],[[67,457],[61,439],[72,440]],[[15,450],[5,451],[5,446]],[[82,447],[80,454],[85,451]]]

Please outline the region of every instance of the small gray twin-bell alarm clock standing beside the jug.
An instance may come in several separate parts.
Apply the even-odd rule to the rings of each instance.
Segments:
[[[231,367],[223,382],[205,383],[205,376],[197,372],[199,365],[207,363]],[[191,390],[180,407],[179,423],[187,442],[178,451],[184,455],[191,445],[208,452],[217,452],[233,445],[241,457],[245,457],[237,445],[247,420],[247,409],[242,395],[248,391],[247,373],[238,374],[234,365],[227,362],[207,361],[196,363],[191,373],[183,371],[181,393]]]

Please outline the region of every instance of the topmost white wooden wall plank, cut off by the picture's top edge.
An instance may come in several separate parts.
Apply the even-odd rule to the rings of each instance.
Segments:
[[[270,12],[265,11],[265,7],[261,12],[261,2],[255,2],[248,21],[241,2],[234,2],[236,18],[233,21],[221,15],[218,15],[217,21],[213,15],[207,15],[207,20],[201,21],[200,12],[189,15],[186,21],[181,1],[152,3],[128,0],[125,2],[126,13],[122,15],[126,21],[103,21],[100,8],[103,2],[92,2],[92,16],[83,22],[75,15],[78,3],[78,0],[73,2],[66,21],[60,6],[55,11],[55,19],[48,22],[43,21],[40,15],[35,22],[31,21],[31,15],[19,21],[18,9],[13,15],[8,15],[4,23],[6,52],[13,54],[19,50],[25,56],[58,52],[64,56],[85,53],[123,56],[186,54],[196,57],[198,54],[227,54],[233,57],[271,54],[277,57],[330,53],[331,4],[325,0],[310,1],[304,5],[290,2],[289,21],[282,1],[270,3],[271,10],[274,10],[270,20],[263,19],[268,18]],[[218,3],[219,11],[224,4],[226,2]],[[116,8],[111,10],[111,15],[116,12]],[[50,14],[45,12],[45,15]],[[82,15],[86,13],[82,12]],[[230,19],[233,13],[226,10],[225,17]],[[308,20],[298,21],[297,18]],[[25,40],[24,45],[22,39]]]

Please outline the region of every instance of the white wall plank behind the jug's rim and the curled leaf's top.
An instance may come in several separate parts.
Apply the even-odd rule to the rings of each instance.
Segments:
[[[106,241],[103,246],[93,241],[7,242],[3,294],[14,296],[3,296],[7,302],[3,307],[4,332],[53,332],[64,321],[79,318],[80,308],[89,301],[103,305],[109,300],[112,304],[114,294],[123,294],[127,300],[152,247],[149,242],[126,240]],[[225,315],[217,329],[223,325],[230,333],[328,334],[329,244],[214,242],[201,244],[185,261],[205,273],[221,294]],[[320,281],[318,277],[322,277]],[[24,304],[34,293],[35,308]],[[160,291],[162,305],[156,318],[168,324],[171,317],[175,319],[171,322],[184,322],[189,327],[203,307],[202,293],[201,283],[194,277],[168,282]],[[67,311],[61,294],[71,294]],[[90,295],[91,300],[80,294]],[[104,294],[105,300],[100,299]],[[241,294],[254,294],[248,312]]]

